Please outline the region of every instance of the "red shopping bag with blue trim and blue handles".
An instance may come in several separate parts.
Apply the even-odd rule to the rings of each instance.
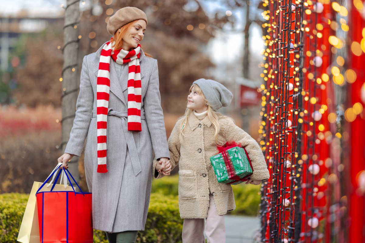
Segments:
[[[92,243],[92,194],[82,192],[67,169],[65,172],[68,172],[81,192],[53,191],[54,186],[50,192],[39,192],[56,171],[47,178],[36,193],[40,243]],[[56,181],[61,172],[62,169],[59,170]],[[69,175],[65,174],[72,184]]]

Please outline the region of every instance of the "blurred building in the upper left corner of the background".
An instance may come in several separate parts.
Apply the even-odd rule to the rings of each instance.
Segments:
[[[64,10],[49,8],[21,9],[17,12],[0,12],[0,70],[9,66],[9,52],[22,33],[39,33],[50,23],[64,21]]]

